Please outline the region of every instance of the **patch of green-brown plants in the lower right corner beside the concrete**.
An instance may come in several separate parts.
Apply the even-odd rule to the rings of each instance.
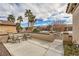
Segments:
[[[79,56],[79,48],[76,47],[73,43],[68,44],[64,42],[64,55],[65,56]]]

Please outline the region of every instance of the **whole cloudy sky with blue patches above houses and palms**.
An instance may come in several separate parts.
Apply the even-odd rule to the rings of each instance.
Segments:
[[[7,20],[9,14],[13,14],[16,18],[22,16],[24,22],[22,26],[27,26],[27,19],[24,17],[25,9],[31,9],[36,19],[42,19],[36,25],[47,25],[52,20],[66,20],[66,23],[72,23],[71,15],[66,14],[67,4],[65,3],[1,3],[0,4],[0,20]]]

